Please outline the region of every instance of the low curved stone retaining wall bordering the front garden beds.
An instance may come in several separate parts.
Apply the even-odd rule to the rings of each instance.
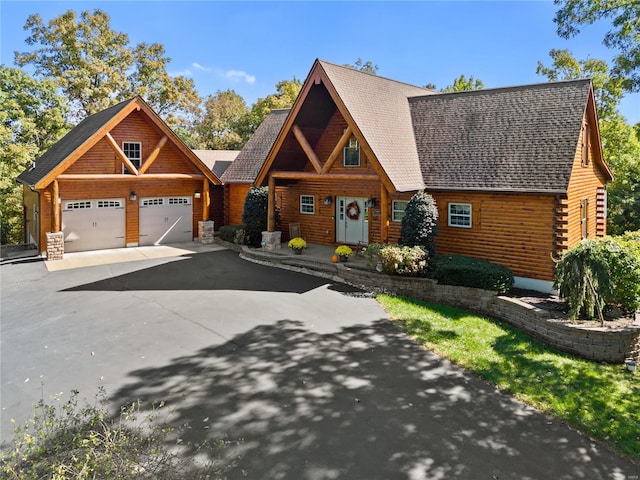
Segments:
[[[497,318],[560,351],[589,360],[610,363],[622,363],[627,358],[640,360],[640,321],[624,328],[581,327],[550,318],[546,310],[488,290],[439,285],[426,278],[386,275],[352,268],[348,263],[327,264],[304,259],[304,256],[265,255],[246,247],[238,250],[243,257],[260,263],[302,270],[365,289],[382,290]]]

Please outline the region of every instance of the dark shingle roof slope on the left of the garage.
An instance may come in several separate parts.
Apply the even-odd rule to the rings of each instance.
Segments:
[[[58,140],[49,150],[35,161],[35,167],[29,168],[18,175],[17,180],[33,188],[40,180],[44,179],[69,155],[80,148],[87,140],[100,130],[113,117],[125,109],[136,99],[120,102],[101,112],[82,120],[73,127],[64,137]]]

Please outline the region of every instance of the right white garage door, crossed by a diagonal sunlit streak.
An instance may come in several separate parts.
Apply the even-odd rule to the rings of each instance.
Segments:
[[[191,197],[140,199],[140,245],[161,245],[192,240]]]

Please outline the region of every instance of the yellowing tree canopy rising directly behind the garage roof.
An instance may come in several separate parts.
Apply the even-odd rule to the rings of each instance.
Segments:
[[[37,48],[16,52],[16,65],[32,65],[36,78],[55,82],[76,121],[135,95],[169,124],[197,111],[200,98],[193,80],[167,73],[171,59],[164,47],[131,46],[128,35],[113,30],[110,20],[99,9],[80,16],[69,10],[47,24],[40,15],[30,15],[26,43]]]

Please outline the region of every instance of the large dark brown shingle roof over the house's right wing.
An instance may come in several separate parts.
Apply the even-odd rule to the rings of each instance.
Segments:
[[[409,99],[427,189],[565,192],[589,80]]]

